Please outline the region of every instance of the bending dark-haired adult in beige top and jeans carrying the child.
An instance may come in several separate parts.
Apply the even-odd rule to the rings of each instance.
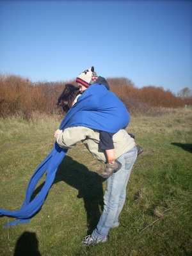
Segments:
[[[65,106],[70,109],[72,107],[72,102],[76,102],[77,90],[78,88],[75,88],[74,86],[74,88],[68,92],[67,96],[65,95],[65,90],[63,91],[62,97],[65,100],[62,100],[62,97],[60,97],[58,101],[58,104],[63,107],[63,110],[65,110]],[[81,97],[83,97],[83,95]],[[81,97],[77,99],[76,104],[81,102]],[[76,108],[76,104],[73,108]],[[70,122],[72,122],[72,120]],[[58,129],[55,132],[54,137],[56,138],[58,145],[65,149],[76,147],[76,143],[82,141],[85,147],[97,160],[106,163],[107,158],[104,150],[99,150],[99,134],[100,132],[97,129],[85,127],[83,125],[71,125],[63,131]],[[122,168],[107,179],[106,191],[104,194],[104,210],[95,230],[93,230],[92,234],[83,239],[82,243],[85,246],[93,243],[105,243],[108,241],[110,228],[115,228],[120,225],[119,216],[125,203],[127,183],[138,152],[134,138],[131,138],[125,129],[120,129],[120,131],[113,135],[113,143],[115,147],[115,157],[122,164]]]

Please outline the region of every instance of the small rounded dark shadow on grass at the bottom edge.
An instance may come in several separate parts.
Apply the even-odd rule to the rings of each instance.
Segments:
[[[33,232],[24,232],[15,246],[14,256],[41,256],[38,251],[38,240]]]

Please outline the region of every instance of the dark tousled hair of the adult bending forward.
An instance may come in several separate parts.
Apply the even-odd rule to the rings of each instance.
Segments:
[[[58,99],[58,106],[63,108],[65,113],[72,107],[74,100],[76,99],[77,95],[81,94],[79,92],[79,88],[74,86],[73,84],[65,84],[65,89],[61,93]]]

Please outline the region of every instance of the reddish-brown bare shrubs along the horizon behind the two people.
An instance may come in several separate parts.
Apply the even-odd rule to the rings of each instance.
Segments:
[[[125,77],[107,78],[110,90],[125,104],[132,115],[161,115],[174,108],[184,108],[192,104],[192,97],[183,99],[161,87],[145,86],[136,88],[130,79]],[[0,117],[20,116],[26,120],[33,118],[34,113],[46,115],[61,114],[56,106],[58,97],[66,83],[38,82],[15,75],[0,75]]]

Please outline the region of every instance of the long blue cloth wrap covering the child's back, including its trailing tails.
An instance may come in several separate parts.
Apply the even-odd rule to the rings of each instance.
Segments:
[[[127,127],[128,124],[129,113],[118,97],[109,92],[104,85],[93,84],[77,99],[76,104],[65,115],[60,124],[60,129],[84,126],[115,133]],[[42,207],[54,182],[58,166],[66,153],[67,149],[61,148],[56,142],[52,151],[36,168],[29,180],[26,197],[20,210],[7,211],[0,209],[0,216],[9,216],[16,219],[16,221],[6,224],[5,227],[29,222],[29,219]],[[36,185],[45,172],[47,172],[45,184],[38,195],[31,200]]]

